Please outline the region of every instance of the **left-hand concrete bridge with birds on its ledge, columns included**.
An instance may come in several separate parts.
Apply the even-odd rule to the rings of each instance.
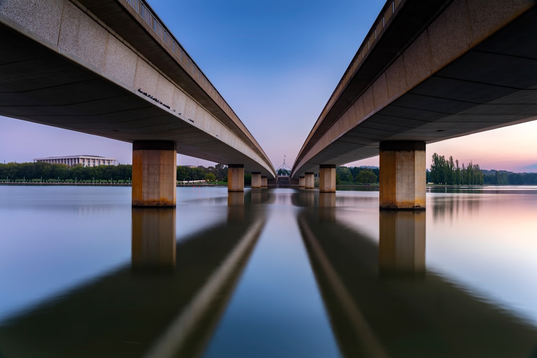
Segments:
[[[175,206],[177,153],[275,171],[143,0],[0,1],[0,115],[133,143],[133,206]]]

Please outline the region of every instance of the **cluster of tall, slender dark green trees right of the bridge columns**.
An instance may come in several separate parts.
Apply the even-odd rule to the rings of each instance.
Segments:
[[[453,160],[452,156],[446,159],[434,153],[432,156],[431,171],[427,176],[427,182],[446,185],[483,185],[484,175],[479,164],[470,162],[465,166],[459,166],[459,160]]]

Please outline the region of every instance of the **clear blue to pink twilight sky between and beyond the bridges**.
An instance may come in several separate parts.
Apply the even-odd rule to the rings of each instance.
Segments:
[[[291,167],[384,1],[148,0],[261,145]],[[481,169],[537,172],[537,121],[428,144]],[[98,155],[132,162],[132,144],[0,116],[0,162]],[[214,163],[178,155],[179,165]],[[378,157],[346,166],[379,165]]]

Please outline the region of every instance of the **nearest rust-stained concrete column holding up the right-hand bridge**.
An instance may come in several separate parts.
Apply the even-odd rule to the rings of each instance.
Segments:
[[[425,210],[425,142],[380,143],[381,209]]]

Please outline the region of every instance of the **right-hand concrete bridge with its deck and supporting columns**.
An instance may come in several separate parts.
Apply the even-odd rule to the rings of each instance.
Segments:
[[[425,145],[537,115],[535,1],[387,1],[297,156],[335,192],[337,165],[380,154],[380,208],[425,209]]]

